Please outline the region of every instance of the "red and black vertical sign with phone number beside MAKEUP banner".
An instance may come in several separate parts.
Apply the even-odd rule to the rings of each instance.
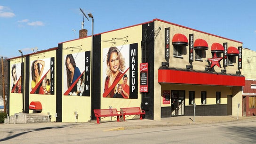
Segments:
[[[148,63],[140,64],[140,92],[148,92]]]

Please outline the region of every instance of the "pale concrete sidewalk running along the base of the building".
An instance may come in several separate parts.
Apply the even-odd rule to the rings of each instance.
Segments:
[[[115,118],[113,118],[114,120]],[[117,121],[101,121],[100,124],[96,120],[89,122],[49,122],[49,123],[30,123],[30,124],[0,124],[0,133],[14,130],[37,130],[47,128],[83,128],[93,131],[112,131],[136,128],[155,128],[155,127],[169,127],[180,125],[195,125],[195,124],[209,124],[219,122],[231,122],[241,120],[256,120],[255,116],[252,117],[239,117],[236,116],[196,116],[193,122],[193,116],[177,116],[170,118],[162,118],[161,120],[126,120],[122,122]]]

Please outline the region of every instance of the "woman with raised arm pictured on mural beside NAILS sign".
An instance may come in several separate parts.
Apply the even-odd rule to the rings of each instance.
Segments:
[[[41,68],[40,68],[41,66]],[[45,62],[42,60],[35,60],[33,61],[31,65],[31,76],[32,76],[32,81],[31,81],[31,88],[35,88],[37,84],[39,83],[43,70],[44,70]],[[41,84],[40,84],[40,89],[41,89]],[[41,92],[39,88],[36,90],[36,94],[44,94],[44,92]]]

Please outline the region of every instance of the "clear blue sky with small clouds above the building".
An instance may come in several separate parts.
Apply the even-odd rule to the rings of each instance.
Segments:
[[[256,51],[256,0],[0,0],[0,56],[45,50],[79,38],[83,15],[94,33],[155,18],[243,42]],[[88,17],[89,18],[89,17]],[[91,35],[91,19],[85,18]]]

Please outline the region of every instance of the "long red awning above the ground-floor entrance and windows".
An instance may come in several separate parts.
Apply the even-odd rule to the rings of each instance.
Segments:
[[[221,74],[159,69],[158,82],[216,86],[244,86],[245,77],[243,75],[228,75],[226,73]]]

